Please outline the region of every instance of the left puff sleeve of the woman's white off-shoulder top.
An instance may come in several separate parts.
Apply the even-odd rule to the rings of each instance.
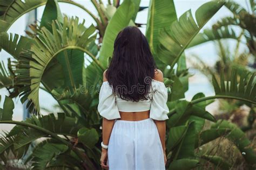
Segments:
[[[112,87],[107,81],[103,82],[100,87],[99,104],[97,109],[99,115],[106,119],[111,120],[121,117],[116,105],[116,98],[112,93]]]

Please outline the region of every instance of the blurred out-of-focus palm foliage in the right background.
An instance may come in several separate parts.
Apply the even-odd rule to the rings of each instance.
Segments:
[[[255,1],[247,2],[247,8],[242,7],[240,4],[233,1],[226,1],[225,8],[232,13],[232,17],[225,17],[219,19],[218,22],[212,25],[212,29],[205,29],[202,33],[192,40],[188,48],[203,44],[204,42],[213,41],[217,47],[219,59],[215,65],[211,66],[205,61],[200,59],[197,55],[188,56],[187,59],[192,63],[193,68],[200,70],[210,80],[212,74],[217,80],[223,79],[223,75],[228,76],[232,74],[232,68],[237,67],[237,73],[241,79],[245,77],[246,73],[255,70]],[[251,22],[248,22],[251,20]],[[235,31],[236,30],[236,31]],[[232,45],[230,42],[234,42]],[[243,49],[243,50],[241,50]],[[197,62],[193,62],[197,61]],[[217,70],[221,70],[219,74]],[[217,117],[225,119],[233,119],[236,121],[243,131],[253,130],[253,123],[255,120],[254,112],[255,105],[247,102],[234,101],[230,99],[219,100],[221,106],[218,112],[222,112]],[[239,110],[247,105],[251,108],[248,115],[247,122],[242,122],[241,114],[237,114]],[[235,116],[240,116],[239,120]],[[234,117],[234,118],[232,118]],[[250,132],[249,132],[250,133]]]

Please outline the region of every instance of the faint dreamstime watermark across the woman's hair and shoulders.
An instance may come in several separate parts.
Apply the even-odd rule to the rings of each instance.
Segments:
[[[152,86],[147,86],[147,84],[150,84]],[[127,87],[126,85],[118,85],[116,87],[116,91],[119,91],[122,94],[133,94],[133,93],[138,93],[138,94],[145,94],[145,91],[148,89],[148,91],[159,91],[167,94],[174,93],[174,91],[171,90],[171,86],[165,87],[164,82],[160,82],[157,80],[152,79],[151,77],[147,76],[144,79],[144,83],[137,83],[133,84],[130,88]],[[112,93],[112,86],[109,84],[109,82],[105,81],[101,84],[101,86],[94,86],[94,85],[89,85],[87,82],[84,85],[80,85],[79,88],[80,94],[92,94],[92,93],[101,93],[101,94],[109,94]]]

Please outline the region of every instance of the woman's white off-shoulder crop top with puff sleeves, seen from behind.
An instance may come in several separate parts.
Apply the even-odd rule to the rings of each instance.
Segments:
[[[167,113],[167,89],[164,82],[152,79],[152,90],[150,90],[150,98],[152,100],[144,100],[139,102],[126,101],[112,93],[112,87],[109,82],[104,81],[99,91],[98,112],[106,119],[120,118],[119,111],[135,112],[150,110],[150,118],[164,121],[169,119]]]

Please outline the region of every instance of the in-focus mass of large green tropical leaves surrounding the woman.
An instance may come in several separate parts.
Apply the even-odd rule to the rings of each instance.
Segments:
[[[85,27],[85,20],[79,23],[77,17],[63,16],[58,2],[79,6],[95,19],[96,25]],[[0,123],[15,124],[0,139],[3,168],[10,165],[12,155],[28,168],[100,169],[102,117],[97,104],[102,75],[111,59],[117,33],[128,25],[139,26],[134,22],[137,12],[144,8],[139,7],[140,1],[133,0],[124,0],[122,4],[108,1],[107,6],[102,1],[91,2],[99,18],[68,0],[0,0],[0,48],[14,57],[8,60],[8,65],[4,62],[0,65],[0,88],[10,93],[4,97],[0,109]],[[228,3],[207,2],[196,11],[196,18],[188,10],[178,19],[173,1],[150,1],[146,37],[171,92],[167,103],[170,112],[166,121],[166,168],[200,168],[205,161],[215,168],[231,168],[231,163],[218,155],[197,152],[201,146],[221,137],[237,147],[248,168],[255,168],[256,153],[245,133],[233,123],[217,121],[205,109],[215,98],[256,104],[255,73],[240,70],[242,74],[237,74],[237,67],[232,67],[231,74],[221,70],[220,79],[212,76],[214,96],[198,93],[191,101],[184,100],[191,76],[184,51],[191,44],[205,41],[195,40],[201,35],[199,31]],[[255,11],[255,2],[251,4]],[[31,25],[32,32],[26,32],[29,37],[6,33],[15,20],[42,5],[45,9],[41,23]],[[86,67],[84,55],[91,59]],[[40,89],[52,95],[63,111],[43,116]],[[12,120],[15,97],[22,103],[27,101],[31,117],[25,121]],[[211,122],[211,127],[204,129],[206,122]]]

